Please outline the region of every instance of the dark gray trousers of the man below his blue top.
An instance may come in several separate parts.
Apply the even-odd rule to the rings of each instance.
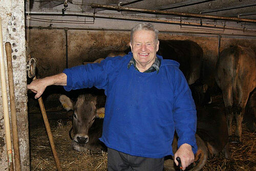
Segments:
[[[164,158],[131,156],[108,148],[108,171],[162,171]]]

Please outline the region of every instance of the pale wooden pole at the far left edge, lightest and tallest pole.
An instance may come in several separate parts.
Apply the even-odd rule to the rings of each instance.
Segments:
[[[1,71],[1,87],[2,87],[2,100],[4,108],[4,121],[5,121],[5,135],[6,135],[6,147],[7,147],[7,161],[9,170],[13,170],[13,158],[12,158],[12,141],[10,131],[8,98],[6,89],[6,77],[5,77],[5,63],[4,63],[4,47],[3,47],[3,33],[2,33],[2,19],[0,18],[0,71]]]

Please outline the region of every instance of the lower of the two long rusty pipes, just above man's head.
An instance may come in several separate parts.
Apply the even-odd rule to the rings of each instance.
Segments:
[[[28,13],[28,12],[26,12]],[[61,12],[29,12],[29,15],[61,15]],[[207,28],[217,28],[217,29],[229,29],[229,30],[244,30],[240,28],[234,27],[227,27],[227,26],[217,26],[217,25],[209,25],[203,23],[192,23],[192,22],[181,22],[181,21],[173,21],[173,20],[165,20],[159,18],[149,18],[149,17],[138,17],[138,16],[127,16],[127,15],[106,15],[102,13],[77,13],[77,12],[66,12],[65,15],[67,16],[87,16],[87,17],[94,17],[94,18],[108,18],[108,19],[123,19],[123,20],[135,20],[135,21],[142,21],[142,22],[154,22],[154,23],[165,23],[165,24],[176,24],[176,25],[185,25],[185,26],[197,26],[197,27],[207,27]],[[255,20],[256,22],[256,20]],[[255,32],[256,30],[248,30],[251,32]]]

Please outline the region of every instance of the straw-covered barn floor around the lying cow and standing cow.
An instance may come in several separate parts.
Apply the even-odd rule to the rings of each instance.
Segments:
[[[36,101],[34,103],[36,104]],[[56,170],[44,123],[39,118],[39,122],[35,124],[35,120],[40,115],[40,111],[35,106],[29,107],[29,116],[33,116],[30,117],[31,170]],[[105,152],[92,153],[87,150],[81,153],[73,151],[69,138],[71,121],[60,120],[58,117],[52,116],[65,114],[65,111],[58,103],[54,106],[53,102],[49,100],[45,101],[45,106],[62,170],[106,170],[107,154]],[[242,128],[242,143],[230,143],[230,157],[225,159],[224,155],[220,154],[208,160],[203,171],[256,170],[256,133],[249,132],[245,125]],[[169,170],[165,169],[164,171]]]

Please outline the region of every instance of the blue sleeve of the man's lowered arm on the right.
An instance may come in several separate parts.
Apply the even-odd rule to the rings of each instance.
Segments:
[[[183,73],[179,70],[175,75],[173,117],[175,129],[179,137],[178,148],[182,144],[187,143],[192,146],[192,151],[196,154],[197,112],[195,102]]]

